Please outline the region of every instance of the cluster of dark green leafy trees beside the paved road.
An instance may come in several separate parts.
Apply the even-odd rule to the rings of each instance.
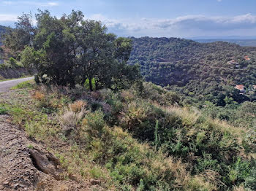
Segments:
[[[20,51],[20,59],[29,69],[37,69],[37,81],[56,85],[84,85],[89,80],[97,89],[123,88],[140,79],[140,69],[127,65],[132,41],[107,32],[96,20],[85,20],[80,11],[60,18],[45,10],[19,17],[9,31],[5,44]]]

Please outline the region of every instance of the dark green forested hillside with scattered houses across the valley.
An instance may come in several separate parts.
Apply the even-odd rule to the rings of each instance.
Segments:
[[[177,38],[131,39],[129,63],[140,64],[146,81],[219,105],[224,104],[226,95],[238,102],[255,98],[253,93],[239,95],[233,87],[244,85],[252,92],[256,47],[227,42],[201,44]]]

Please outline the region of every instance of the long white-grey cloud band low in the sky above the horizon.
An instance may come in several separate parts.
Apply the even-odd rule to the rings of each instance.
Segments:
[[[49,2],[48,2],[49,4]],[[53,4],[54,5],[54,4]],[[52,6],[53,6],[52,5]],[[256,15],[246,14],[233,17],[208,17],[206,15],[185,15],[171,19],[127,18],[111,19],[104,15],[91,15],[101,20],[108,31],[118,36],[255,36]],[[14,23],[17,15],[1,15],[0,25]]]

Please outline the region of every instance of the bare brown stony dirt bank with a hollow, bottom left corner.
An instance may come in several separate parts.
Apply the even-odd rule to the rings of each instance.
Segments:
[[[64,180],[59,161],[0,115],[0,190],[92,190],[90,183]]]

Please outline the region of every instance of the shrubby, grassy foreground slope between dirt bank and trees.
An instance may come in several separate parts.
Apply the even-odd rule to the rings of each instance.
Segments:
[[[24,87],[1,111],[59,157],[65,179],[99,179],[105,190],[255,190],[250,129],[182,106],[176,93],[151,83],[116,93]]]

